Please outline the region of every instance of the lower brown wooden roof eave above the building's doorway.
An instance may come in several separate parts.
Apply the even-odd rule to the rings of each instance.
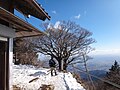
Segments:
[[[2,7],[0,7],[0,19],[12,24],[13,26],[15,26],[16,29],[19,29],[19,32],[16,32],[16,37],[29,37],[43,34],[43,32],[39,31],[31,24],[18,18],[17,16],[8,12]]]

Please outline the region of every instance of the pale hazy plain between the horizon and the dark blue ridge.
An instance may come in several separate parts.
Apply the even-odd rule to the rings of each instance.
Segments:
[[[108,71],[114,64],[115,60],[120,64],[120,55],[93,55],[93,59],[87,62],[89,70],[104,70]]]

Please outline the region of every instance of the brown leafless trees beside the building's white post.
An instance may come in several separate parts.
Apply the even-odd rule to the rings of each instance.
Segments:
[[[14,63],[15,64],[32,64],[37,62],[37,52],[34,52],[31,45],[31,38],[14,39]]]

